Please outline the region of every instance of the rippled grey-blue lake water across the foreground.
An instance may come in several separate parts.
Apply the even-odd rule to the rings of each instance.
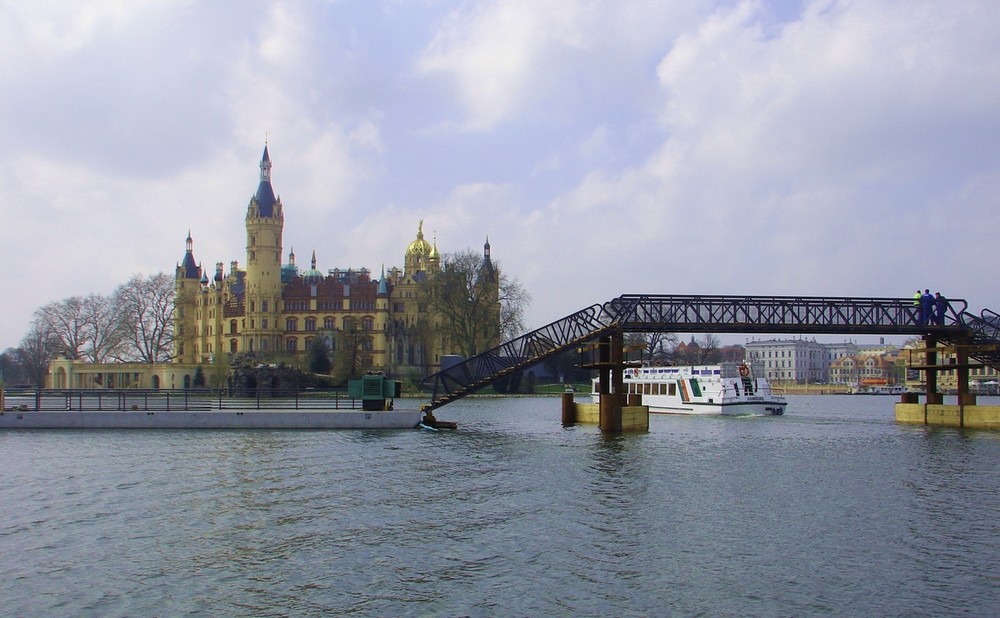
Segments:
[[[987,616],[1000,433],[895,398],[563,428],[0,433],[11,616]],[[414,404],[416,405],[416,404]]]

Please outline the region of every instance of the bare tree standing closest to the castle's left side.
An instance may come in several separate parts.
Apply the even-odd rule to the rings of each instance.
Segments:
[[[122,340],[120,360],[164,363],[174,336],[174,280],[165,273],[132,275],[115,290],[116,328]]]

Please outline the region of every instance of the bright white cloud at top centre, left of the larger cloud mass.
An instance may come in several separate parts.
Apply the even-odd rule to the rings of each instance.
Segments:
[[[646,56],[698,4],[688,12],[657,2],[473,3],[448,16],[416,69],[451,78],[463,117],[446,127],[489,132],[524,118],[585,114],[640,94],[633,88]]]

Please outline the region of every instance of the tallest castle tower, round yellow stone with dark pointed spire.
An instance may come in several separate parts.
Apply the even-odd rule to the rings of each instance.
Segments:
[[[271,157],[264,145],[260,184],[247,207],[246,323],[241,349],[270,354],[280,351],[281,199],[271,188]]]

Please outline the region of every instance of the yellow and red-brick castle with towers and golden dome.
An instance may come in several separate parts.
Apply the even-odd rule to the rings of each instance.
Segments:
[[[440,367],[450,343],[438,329],[423,283],[442,268],[437,242],[424,238],[423,222],[406,248],[403,268],[385,268],[377,278],[367,268],[334,268],[323,274],[313,251],[299,269],[294,250],[282,264],[284,206],[271,186],[267,146],[260,183],[246,212],[246,263],[208,273],[195,260],[190,232],[177,265],[174,359],[211,364],[220,355],[254,353],[263,359],[305,359],[317,337],[336,362],[338,353],[362,354],[365,364],[392,375],[427,375]],[[487,240],[484,270],[498,286]],[[499,319],[499,313],[497,313]],[[489,342],[495,344],[496,342]]]

